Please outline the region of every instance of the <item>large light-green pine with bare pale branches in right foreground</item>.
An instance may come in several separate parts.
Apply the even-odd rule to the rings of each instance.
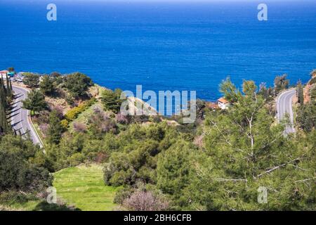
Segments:
[[[274,124],[254,86],[237,98],[227,113],[206,117],[205,150],[191,162],[195,176],[182,193],[187,204],[201,210],[312,209],[312,145],[302,148],[284,136],[285,124]],[[258,203],[260,187],[268,190],[266,204]]]

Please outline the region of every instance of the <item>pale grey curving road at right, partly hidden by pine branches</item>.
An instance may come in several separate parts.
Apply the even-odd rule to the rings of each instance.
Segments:
[[[292,100],[296,95],[295,89],[289,89],[287,91],[282,92],[277,97],[277,121],[280,122],[286,114],[289,115],[289,119],[291,124],[285,128],[286,134],[291,134],[295,132],[294,129],[294,116],[293,116],[293,108],[292,108]]]

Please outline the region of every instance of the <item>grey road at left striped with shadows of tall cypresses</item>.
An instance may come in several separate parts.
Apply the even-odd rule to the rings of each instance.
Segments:
[[[17,134],[26,136],[29,134],[34,144],[39,144],[42,148],[43,145],[37,135],[32,122],[29,119],[29,110],[22,108],[22,101],[27,98],[28,90],[20,86],[12,86],[12,89],[15,94],[15,100],[13,103],[13,108],[11,112],[11,125],[15,129]]]

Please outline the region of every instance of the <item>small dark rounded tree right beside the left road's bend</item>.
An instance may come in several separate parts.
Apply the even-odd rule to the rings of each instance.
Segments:
[[[34,112],[41,112],[42,110],[45,110],[47,107],[47,103],[45,101],[45,96],[41,91],[32,89],[32,91],[29,92],[27,95],[27,99],[25,101],[22,101],[23,108],[27,110],[32,110]]]

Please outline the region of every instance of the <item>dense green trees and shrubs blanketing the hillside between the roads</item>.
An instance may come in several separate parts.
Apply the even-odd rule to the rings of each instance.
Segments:
[[[122,210],[315,210],[313,84],[305,103],[298,83],[298,132],[284,135],[287,120],[275,122],[274,104],[289,87],[286,75],[276,77],[273,87],[245,80],[242,91],[226,79],[220,91],[230,108],[209,108],[199,100],[195,124],[182,124],[181,117],[121,115],[121,90],[97,87],[92,94],[96,86],[78,72],[53,72],[39,80],[25,108],[37,112],[34,122],[44,137],[45,153],[29,140],[3,136],[1,146],[10,150],[0,147],[7,162],[1,170],[13,167],[12,177],[27,173],[32,178],[1,181],[6,190],[41,192],[50,185],[48,172],[57,172],[55,184],[63,188],[72,184],[61,174],[92,163],[103,167],[104,190],[116,190],[114,203]],[[56,101],[60,105],[53,105]],[[12,158],[20,165],[10,164]],[[257,199],[261,187],[268,190],[264,204]],[[72,201],[77,207],[82,203]]]

